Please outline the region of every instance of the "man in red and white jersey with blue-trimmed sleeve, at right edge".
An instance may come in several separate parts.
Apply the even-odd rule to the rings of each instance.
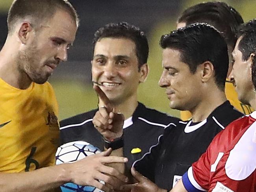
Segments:
[[[241,102],[256,109],[256,20],[241,26],[230,78]],[[256,192],[256,111],[235,120],[211,142],[171,192]]]

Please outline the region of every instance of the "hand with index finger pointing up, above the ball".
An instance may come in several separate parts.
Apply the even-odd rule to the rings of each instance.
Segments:
[[[98,98],[103,103],[99,106],[99,110],[93,117],[94,127],[103,135],[107,140],[113,140],[122,136],[122,127],[124,124],[124,115],[117,113],[112,103],[109,101],[106,94],[94,85],[93,89],[98,94]]]

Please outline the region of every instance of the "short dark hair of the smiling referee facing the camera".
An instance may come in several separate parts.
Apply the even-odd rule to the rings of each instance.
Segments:
[[[136,55],[139,67],[148,60],[148,40],[143,31],[127,22],[109,23],[99,28],[94,33],[93,52],[97,41],[104,37],[127,38],[132,40],[136,46]]]

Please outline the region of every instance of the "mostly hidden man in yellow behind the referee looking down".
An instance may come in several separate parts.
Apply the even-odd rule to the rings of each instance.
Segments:
[[[231,60],[232,50],[236,44],[235,30],[237,26],[243,23],[241,15],[231,6],[228,6],[224,2],[207,2],[197,4],[195,6],[186,9],[178,18],[177,28],[185,27],[186,25],[195,22],[205,22],[213,25],[217,30],[221,31],[225,37],[228,45],[228,55]],[[232,70],[231,62],[228,68],[228,75]],[[227,77],[228,77],[227,75]],[[230,104],[238,109],[241,113],[250,114],[253,109],[250,105],[245,105],[237,99],[237,93],[230,80],[226,79],[225,84],[226,98],[230,101]],[[189,111],[181,111],[180,117],[182,120],[188,120],[191,118]]]

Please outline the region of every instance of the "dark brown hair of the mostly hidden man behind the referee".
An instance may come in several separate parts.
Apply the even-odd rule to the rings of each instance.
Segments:
[[[178,22],[187,25],[204,22],[214,26],[223,33],[223,36],[232,51],[236,44],[236,29],[243,23],[243,18],[234,9],[224,2],[200,3],[186,9],[178,18]]]

